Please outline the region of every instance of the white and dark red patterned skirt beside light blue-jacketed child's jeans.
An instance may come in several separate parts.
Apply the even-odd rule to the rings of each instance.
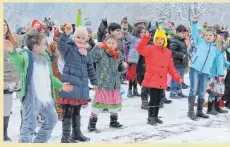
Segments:
[[[223,96],[224,95],[224,78],[219,77],[219,78],[210,78],[208,81],[208,88],[207,92],[215,94],[216,96]]]

